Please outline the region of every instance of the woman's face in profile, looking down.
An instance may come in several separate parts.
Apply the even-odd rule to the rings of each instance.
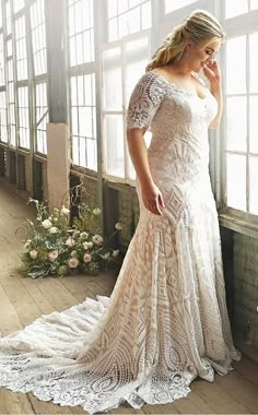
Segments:
[[[195,72],[200,72],[209,62],[213,61],[215,54],[221,48],[221,39],[212,39],[208,43],[189,44],[189,61]]]

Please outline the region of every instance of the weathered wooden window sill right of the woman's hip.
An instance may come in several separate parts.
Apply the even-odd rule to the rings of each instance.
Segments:
[[[258,223],[237,217],[232,213],[220,213],[219,223],[223,227],[258,239]]]

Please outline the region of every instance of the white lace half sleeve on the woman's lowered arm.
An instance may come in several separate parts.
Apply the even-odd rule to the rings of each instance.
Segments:
[[[154,72],[146,72],[132,91],[127,110],[127,128],[149,127],[164,94],[164,83]]]

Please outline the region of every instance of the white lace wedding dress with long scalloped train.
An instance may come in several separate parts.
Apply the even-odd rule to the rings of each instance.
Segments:
[[[0,341],[0,384],[90,414],[127,401],[173,402],[197,377],[238,359],[227,318],[218,214],[208,163],[216,102],[144,74],[128,127],[151,126],[149,163],[163,216],[140,220],[110,298],[43,316]],[[35,282],[36,284],[36,282]]]

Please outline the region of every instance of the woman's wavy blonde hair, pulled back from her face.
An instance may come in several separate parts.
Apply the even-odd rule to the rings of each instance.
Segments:
[[[196,10],[168,34],[146,66],[146,71],[180,60],[188,43],[198,44],[214,38],[225,40],[220,22],[206,10]]]

